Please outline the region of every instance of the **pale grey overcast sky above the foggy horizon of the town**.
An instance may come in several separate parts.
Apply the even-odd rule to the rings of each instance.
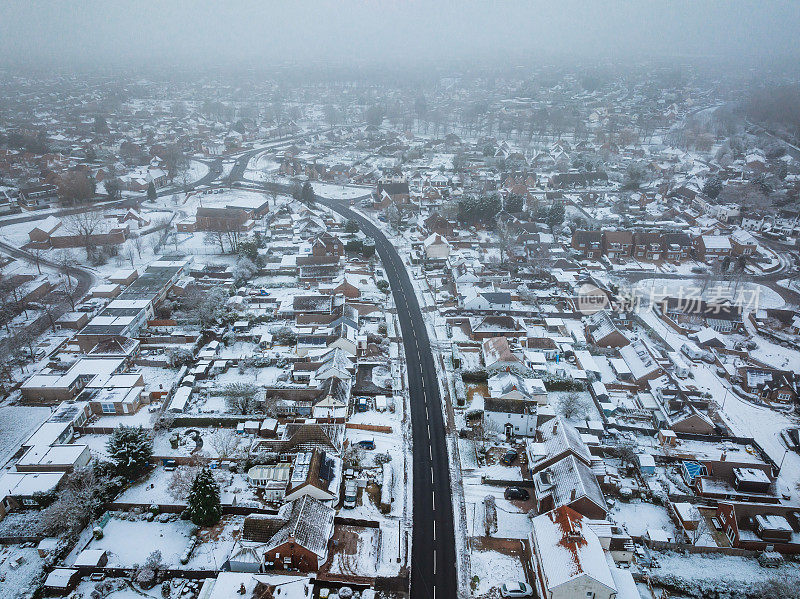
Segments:
[[[2,0],[0,60],[397,64],[798,54],[800,0]]]

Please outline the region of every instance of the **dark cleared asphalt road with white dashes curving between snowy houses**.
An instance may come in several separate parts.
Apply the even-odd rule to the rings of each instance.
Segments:
[[[411,597],[458,596],[453,504],[439,377],[414,286],[397,250],[374,224],[344,202],[317,202],[353,219],[375,240],[394,295],[406,354],[413,436]]]

